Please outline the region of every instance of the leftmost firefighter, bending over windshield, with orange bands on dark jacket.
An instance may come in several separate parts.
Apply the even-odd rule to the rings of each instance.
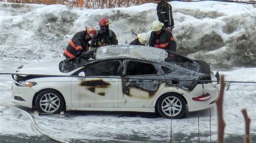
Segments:
[[[70,40],[63,55],[67,58],[79,57],[81,53],[88,51],[89,41],[97,36],[97,30],[93,27],[85,27],[84,31],[77,32]]]

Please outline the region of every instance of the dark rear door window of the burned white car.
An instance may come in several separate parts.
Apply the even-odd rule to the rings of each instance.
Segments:
[[[128,61],[126,69],[126,76],[157,74],[153,64],[138,61]]]

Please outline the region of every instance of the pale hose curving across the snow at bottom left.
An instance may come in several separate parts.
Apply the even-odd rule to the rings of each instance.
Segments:
[[[25,113],[25,114],[30,118],[30,120],[33,122],[33,125],[36,127],[36,129],[37,129],[41,134],[43,134],[44,136],[47,136],[48,138],[51,138],[52,140],[58,141],[58,142],[60,142],[60,143],[68,143],[67,141],[62,141],[62,140],[60,140],[60,139],[58,139],[58,138],[55,138],[54,136],[51,136],[51,135],[48,134],[47,132],[41,130],[41,129],[38,127],[38,125],[36,124],[34,118],[33,118],[28,112],[26,112],[26,111],[24,111],[24,110],[22,110],[22,109],[20,109],[20,108],[17,108],[17,107],[15,107],[15,106],[12,106],[12,105],[10,105],[10,104],[4,103],[4,102],[0,102],[0,105],[12,107],[12,108],[15,108],[15,109],[17,109],[17,110],[19,110],[19,111]]]

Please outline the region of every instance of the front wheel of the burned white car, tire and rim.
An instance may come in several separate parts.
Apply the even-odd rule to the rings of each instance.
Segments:
[[[58,114],[62,111],[64,99],[55,90],[44,90],[36,97],[35,105],[40,113]]]

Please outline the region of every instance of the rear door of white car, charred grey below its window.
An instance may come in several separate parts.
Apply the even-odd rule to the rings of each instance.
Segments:
[[[165,82],[156,63],[141,60],[126,60],[123,78],[119,86],[119,107],[149,107]]]

